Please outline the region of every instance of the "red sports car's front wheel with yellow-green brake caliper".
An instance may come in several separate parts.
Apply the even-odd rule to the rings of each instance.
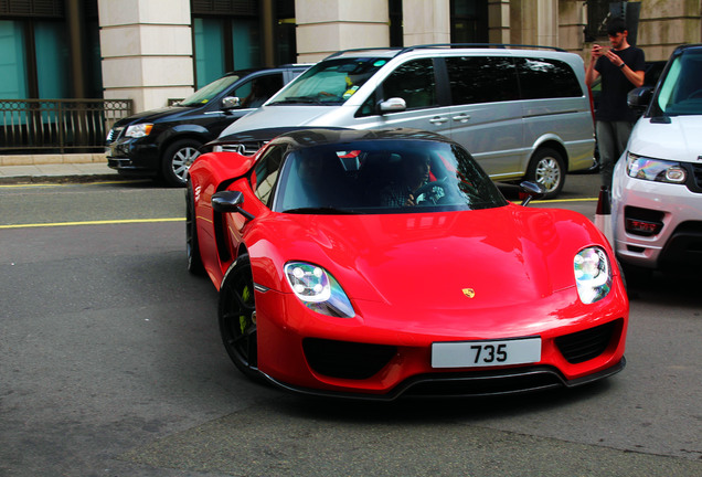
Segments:
[[[217,316],[227,354],[247,378],[259,380],[254,279],[247,254],[241,255],[224,275]]]

